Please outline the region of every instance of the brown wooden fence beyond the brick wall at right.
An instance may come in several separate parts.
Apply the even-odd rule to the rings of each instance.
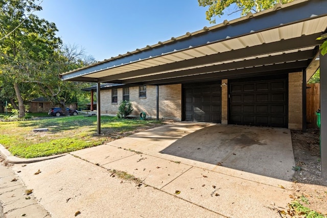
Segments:
[[[320,108],[320,83],[307,84],[307,127],[318,128],[316,111]]]

